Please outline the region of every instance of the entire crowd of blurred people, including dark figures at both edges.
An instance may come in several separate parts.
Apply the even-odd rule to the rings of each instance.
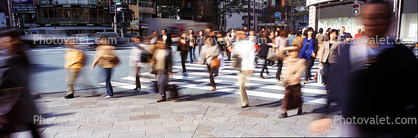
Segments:
[[[268,66],[276,67],[275,78],[285,87],[282,99],[283,111],[280,118],[288,116],[287,111],[298,109],[301,115],[303,99],[301,81],[307,84],[313,80],[322,82],[327,90],[327,108],[331,103],[345,118],[417,117],[418,60],[404,45],[393,40],[374,43],[372,38],[387,38],[391,25],[391,6],[386,1],[370,2],[362,6],[362,21],[365,31],[360,29],[353,38],[345,28],[339,30],[320,28],[304,30],[254,30],[232,29],[216,33],[212,29],[200,30],[198,35],[189,30],[181,35],[177,43],[180,52],[183,73],[186,73],[186,60],[189,54],[190,64],[197,61],[206,66],[209,73],[211,90],[216,91],[215,76],[222,70],[223,57],[231,60],[230,66],[237,70],[241,108],[249,107],[246,92],[246,78],[254,73],[258,59],[264,61],[260,79],[264,71],[270,75]],[[0,32],[0,137],[12,133],[14,124],[25,124],[34,137],[39,136],[31,116],[38,114],[28,91],[29,62],[24,50],[18,44],[15,31]],[[290,33],[290,34],[288,34]],[[141,89],[141,68],[150,64],[151,74],[156,77],[156,90],[161,96],[157,102],[167,100],[169,75],[173,75],[173,41],[167,30],[153,31],[149,38],[134,37],[130,65],[135,67],[135,88]],[[226,35],[225,35],[226,34]],[[101,40],[106,40],[103,38]],[[366,41],[359,41],[364,39]],[[67,71],[67,99],[74,98],[74,82],[78,72],[85,64],[85,54],[73,43],[66,43],[65,68]],[[175,44],[174,44],[175,45]],[[195,49],[198,55],[195,56]],[[101,41],[91,65],[105,71],[107,96],[113,97],[111,85],[112,68],[120,63],[114,52],[115,47],[107,41]],[[320,63],[316,75],[311,75],[315,59]],[[270,68],[271,68],[270,67]],[[282,68],[286,67],[284,73]],[[305,72],[305,73],[303,73]],[[12,74],[12,75],[10,75]],[[304,75],[304,80],[300,78]],[[11,77],[13,76],[13,77]],[[6,98],[6,99],[4,99]],[[328,112],[327,112],[328,113]],[[331,124],[330,116],[316,120],[311,124],[314,132],[323,132],[324,125]],[[341,129],[342,136],[402,136],[414,137],[417,123],[410,124],[347,124]],[[329,129],[329,127],[328,127]]]

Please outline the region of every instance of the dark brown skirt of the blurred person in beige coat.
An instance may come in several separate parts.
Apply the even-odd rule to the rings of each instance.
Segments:
[[[284,98],[282,101],[283,109],[295,109],[302,107],[302,94],[300,92],[301,85],[290,85],[287,86],[284,91]]]

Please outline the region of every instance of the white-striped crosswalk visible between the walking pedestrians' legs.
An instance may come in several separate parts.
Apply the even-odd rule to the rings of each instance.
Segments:
[[[196,63],[186,63],[186,73],[182,73],[180,61],[174,59],[173,72],[170,76],[170,84],[176,84],[180,87],[180,94],[198,95],[204,93],[219,93],[222,97],[239,97],[238,72],[236,69],[229,66],[230,61],[225,61],[225,66],[219,71],[219,75],[215,77],[216,91],[210,91],[211,85],[209,81],[209,73],[206,65],[199,65]],[[265,79],[259,78],[262,64],[264,61],[259,60],[259,64],[255,69],[255,73],[247,78],[246,87],[249,98],[263,99],[263,100],[280,100],[284,97],[285,88],[281,82],[277,82],[275,75],[277,67],[268,66],[270,76],[264,74]],[[311,73],[315,75],[319,65],[315,62]],[[283,67],[282,73],[286,70]],[[141,92],[153,93],[152,81],[155,81],[155,76],[149,73],[149,70],[144,69],[141,72]],[[303,76],[301,77],[301,80]],[[104,82],[100,85],[105,85]],[[124,90],[132,90],[135,88],[135,77],[126,76],[123,78],[113,78],[112,86]],[[133,90],[132,90],[133,91]],[[305,104],[325,104],[326,91],[325,88],[314,81],[308,84],[302,84],[302,96]]]

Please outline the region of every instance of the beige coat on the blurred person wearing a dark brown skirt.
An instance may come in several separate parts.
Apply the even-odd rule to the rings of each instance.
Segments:
[[[287,57],[285,50],[281,50],[278,56],[280,60],[286,61],[284,66],[287,67],[287,69],[285,70],[285,77],[282,82],[283,86],[287,87],[299,84],[300,81],[292,81],[292,79],[295,77],[300,78],[302,76],[306,69],[306,60],[303,58]]]

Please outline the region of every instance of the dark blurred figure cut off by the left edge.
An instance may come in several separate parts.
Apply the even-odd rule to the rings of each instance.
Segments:
[[[15,126],[24,125],[32,137],[39,132],[34,123],[38,111],[29,92],[29,60],[19,44],[17,30],[0,30],[0,137],[9,137]]]

